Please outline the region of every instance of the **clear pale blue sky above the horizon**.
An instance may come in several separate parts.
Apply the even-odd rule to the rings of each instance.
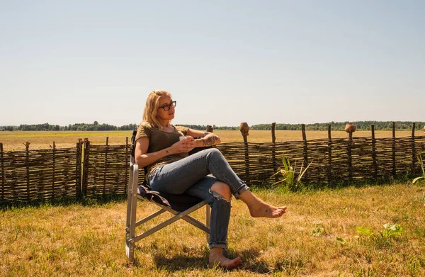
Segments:
[[[0,0],[0,125],[425,121],[425,1]]]

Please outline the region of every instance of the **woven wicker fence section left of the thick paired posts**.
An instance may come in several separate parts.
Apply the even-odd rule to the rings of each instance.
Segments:
[[[1,202],[75,198],[81,194],[81,145],[4,152],[0,144]]]

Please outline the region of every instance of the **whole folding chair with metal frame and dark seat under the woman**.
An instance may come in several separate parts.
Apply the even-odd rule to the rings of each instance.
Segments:
[[[139,166],[135,163],[135,137],[136,130],[132,133],[131,139],[131,150],[130,150],[130,178],[128,185],[128,198],[127,198],[127,223],[125,225],[125,251],[128,256],[128,261],[134,261],[135,254],[135,243],[140,239],[144,239],[145,237],[153,234],[161,230],[162,228],[170,225],[177,220],[185,220],[191,225],[203,230],[206,233],[207,243],[210,242],[210,206],[207,203],[207,200],[202,200],[200,198],[196,198],[194,196],[189,196],[188,194],[169,194],[162,193],[159,191],[152,191],[146,183],[146,180],[138,185],[137,179],[139,176]],[[209,148],[209,147],[203,147]],[[198,152],[202,149],[194,149]],[[189,153],[193,154],[193,153]],[[146,174],[146,168],[145,168]],[[138,220],[136,222],[136,208],[137,208],[137,199],[147,199],[152,203],[155,203],[159,206],[160,210],[152,213],[152,215],[148,215],[147,217]],[[189,214],[206,206],[206,224],[196,220],[191,217]],[[143,232],[142,234],[136,235],[136,227],[145,224],[152,218],[161,215],[162,213],[169,212],[174,215],[169,220],[165,220],[152,227],[151,229]]]

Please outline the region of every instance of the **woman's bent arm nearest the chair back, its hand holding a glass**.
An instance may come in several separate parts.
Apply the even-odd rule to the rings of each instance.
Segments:
[[[136,141],[136,149],[135,149],[135,162],[137,165],[142,168],[157,162],[157,160],[162,159],[171,154],[178,154],[189,152],[195,147],[195,144],[190,140],[187,141],[179,141],[171,145],[170,147],[164,148],[157,152],[147,153],[147,149],[149,148],[149,138],[140,137]]]

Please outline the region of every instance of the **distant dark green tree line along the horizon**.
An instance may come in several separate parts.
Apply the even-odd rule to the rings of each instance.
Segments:
[[[344,130],[346,122],[329,122],[305,124],[305,130],[322,130],[325,131],[328,125],[331,130]],[[357,130],[370,130],[370,125],[375,125],[375,130],[392,130],[392,121],[353,121]],[[194,130],[207,130],[207,125],[179,124]],[[425,122],[416,122],[415,129],[423,130]],[[118,131],[118,130],[136,130],[138,124],[128,124],[122,126],[109,125],[106,123],[75,123],[67,126],[43,124],[21,124],[19,126],[0,126],[0,130],[5,131]],[[396,121],[396,130],[411,130],[412,121]],[[216,126],[212,125],[213,130],[239,130],[239,126]],[[271,130],[271,123],[256,124],[250,126],[251,130]],[[276,123],[276,130],[301,130],[301,124]]]

